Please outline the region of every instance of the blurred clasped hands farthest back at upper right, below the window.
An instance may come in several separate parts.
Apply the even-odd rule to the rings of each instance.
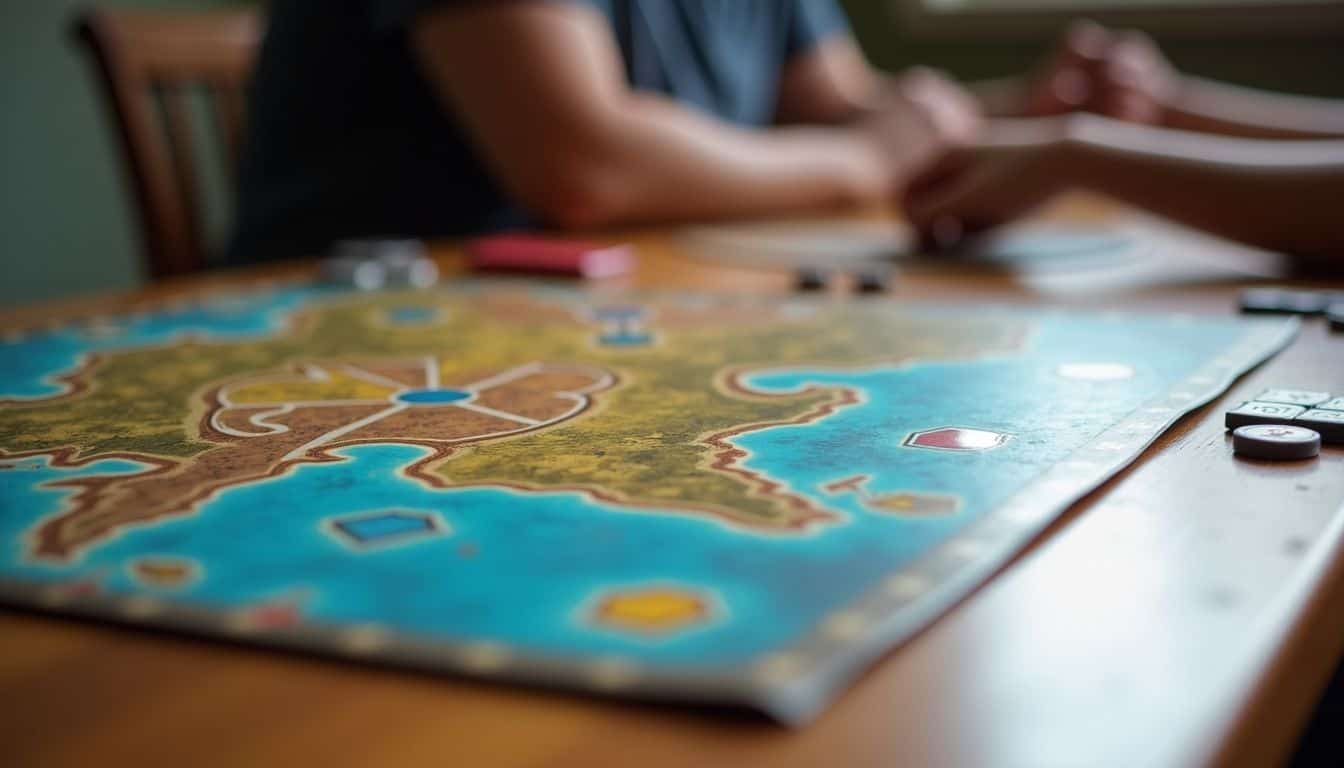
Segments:
[[[1025,113],[1087,110],[1128,122],[1156,124],[1179,79],[1148,35],[1075,22],[1031,78]]]

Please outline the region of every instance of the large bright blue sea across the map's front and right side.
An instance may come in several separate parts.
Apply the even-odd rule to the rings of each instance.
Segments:
[[[734,438],[749,452],[743,467],[837,515],[806,533],[758,533],[578,492],[431,488],[402,472],[427,449],[384,444],[344,448],[343,461],[298,465],[231,488],[196,514],[128,529],[77,562],[50,565],[24,558],[27,531],[73,492],[50,482],[136,465],[103,460],[54,468],[30,457],[4,461],[9,468],[0,471],[0,574],[97,577],[114,593],[151,592],[218,608],[293,599],[323,623],[379,623],[552,658],[601,654],[727,667],[796,643],[828,612],[1176,389],[1249,328],[1235,319],[1042,315],[1025,347],[1003,356],[749,375],[745,386],[762,393],[821,386],[860,395],[820,421]],[[1059,375],[1062,364],[1077,363],[1120,363],[1132,375]],[[903,445],[910,433],[941,426],[1009,437],[978,452]],[[956,495],[961,506],[945,516],[896,516],[866,508],[855,490],[825,490],[856,475],[870,476],[864,492],[871,495]],[[398,514],[370,521],[390,510]],[[202,574],[177,589],[146,586],[126,569],[146,555],[190,558]],[[698,590],[710,599],[711,616],[652,638],[591,621],[606,590],[641,585]]]

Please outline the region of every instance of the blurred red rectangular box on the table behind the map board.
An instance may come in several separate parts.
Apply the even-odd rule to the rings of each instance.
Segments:
[[[472,269],[535,272],[602,278],[634,269],[634,250],[628,245],[594,245],[540,235],[501,234],[466,243]]]

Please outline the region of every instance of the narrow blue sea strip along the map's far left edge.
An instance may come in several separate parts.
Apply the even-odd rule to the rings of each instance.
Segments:
[[[328,293],[331,288],[301,285],[30,331],[0,343],[0,401],[63,393],[56,378],[75,371],[85,355],[94,352],[149,347],[183,338],[238,342],[269,336],[284,328],[290,312]]]

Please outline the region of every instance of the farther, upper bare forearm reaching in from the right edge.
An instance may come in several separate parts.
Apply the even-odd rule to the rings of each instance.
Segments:
[[[1344,137],[1344,102],[1183,75],[1165,105],[1169,128],[1253,139]]]

